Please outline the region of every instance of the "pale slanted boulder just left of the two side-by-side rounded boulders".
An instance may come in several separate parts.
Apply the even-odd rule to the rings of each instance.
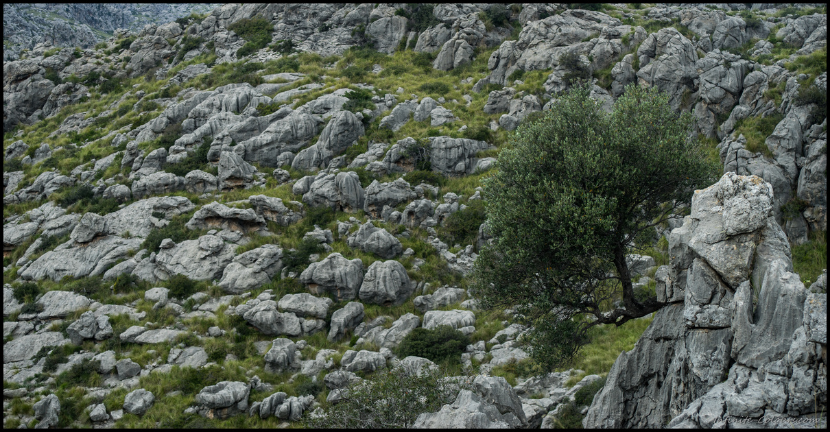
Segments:
[[[261,245],[237,255],[222,272],[219,287],[240,294],[271,282],[282,269],[282,250],[276,245]]]

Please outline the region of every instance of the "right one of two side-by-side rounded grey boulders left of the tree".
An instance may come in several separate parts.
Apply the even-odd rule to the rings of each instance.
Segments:
[[[409,299],[415,286],[415,281],[407,275],[407,269],[398,261],[375,261],[366,270],[359,297],[365,303],[398,305]]]

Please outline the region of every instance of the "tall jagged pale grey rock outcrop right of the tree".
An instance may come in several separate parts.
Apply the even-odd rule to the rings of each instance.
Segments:
[[[826,294],[808,299],[792,273],[772,189],[727,172],[696,192],[691,216],[671,232],[671,269],[658,282],[669,304],[614,363],[583,425],[724,427],[826,404],[827,366],[818,357],[826,339],[808,336],[821,332],[812,332],[821,326],[813,311]]]

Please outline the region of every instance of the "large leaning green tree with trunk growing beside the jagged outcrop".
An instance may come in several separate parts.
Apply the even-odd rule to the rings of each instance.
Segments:
[[[575,86],[517,129],[484,186],[494,238],[476,260],[476,295],[515,308],[546,368],[573,358],[591,326],[664,305],[635,298],[626,257],[638,233],[715,180],[691,114],[666,94],[630,85],[609,114],[589,95]]]

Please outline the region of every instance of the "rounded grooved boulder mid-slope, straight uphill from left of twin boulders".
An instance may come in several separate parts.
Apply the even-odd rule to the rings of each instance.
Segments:
[[[327,206],[333,211],[354,213],[364,206],[363,187],[356,172],[339,172],[318,176],[303,195],[312,207]]]

